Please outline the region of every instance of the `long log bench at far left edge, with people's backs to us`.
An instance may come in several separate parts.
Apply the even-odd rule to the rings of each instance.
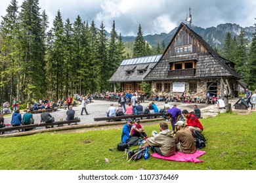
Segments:
[[[54,126],[57,125],[58,127],[64,125],[64,124],[75,124],[80,122],[80,119],[78,120],[65,120],[65,121],[57,121],[57,122],[52,122],[52,123],[41,123],[39,124],[31,124],[31,125],[19,125],[19,126],[11,126],[11,127],[1,127],[0,128],[0,134],[5,131],[14,131],[14,130],[20,130],[20,129],[33,129],[37,127],[44,127],[44,126]]]

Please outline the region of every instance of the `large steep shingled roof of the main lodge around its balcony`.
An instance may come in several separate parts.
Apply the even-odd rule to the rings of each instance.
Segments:
[[[175,41],[177,35],[181,31],[188,32],[191,37],[194,37],[196,41],[200,42],[202,46],[207,50],[204,54],[198,54],[197,52],[188,53],[188,54],[180,54],[179,56],[169,56],[169,52],[171,49],[171,45]],[[194,46],[194,44],[192,45]],[[174,50],[171,50],[174,52]],[[188,61],[188,60],[196,60],[196,73],[194,76],[168,76],[169,71],[169,63],[171,62],[179,62],[179,61]],[[170,79],[187,79],[187,78],[214,78],[214,77],[234,77],[239,79],[240,75],[229,67],[227,64],[232,63],[232,61],[228,61],[224,58],[221,58],[209,44],[200,37],[197,33],[195,33],[192,29],[190,29],[187,25],[181,23],[179,28],[177,29],[173,39],[167,46],[167,49],[161,56],[160,60],[148,75],[145,76],[144,80],[170,80]],[[232,63],[234,65],[234,63]]]

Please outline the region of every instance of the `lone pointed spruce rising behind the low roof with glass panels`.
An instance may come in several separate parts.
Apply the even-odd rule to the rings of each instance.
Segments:
[[[137,37],[135,38],[134,47],[133,47],[133,56],[140,57],[145,56],[145,41],[143,37],[143,33],[141,30],[141,26],[139,24],[139,30],[137,33]]]

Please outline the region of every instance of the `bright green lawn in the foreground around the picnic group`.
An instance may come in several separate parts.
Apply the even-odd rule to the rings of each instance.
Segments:
[[[203,163],[181,163],[150,157],[127,162],[123,152],[110,151],[120,141],[121,129],[83,133],[37,133],[26,137],[1,138],[2,170],[244,170],[256,169],[256,112],[247,115],[219,114],[200,120],[207,139]],[[144,125],[144,124],[142,124]],[[146,132],[159,129],[145,126]],[[105,163],[109,158],[110,163]]]

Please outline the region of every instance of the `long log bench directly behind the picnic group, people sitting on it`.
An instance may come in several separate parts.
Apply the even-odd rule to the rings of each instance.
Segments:
[[[123,115],[123,116],[116,116],[116,117],[102,117],[102,118],[94,118],[95,122],[98,121],[109,121],[114,122],[115,120],[126,120],[128,118],[151,118],[151,117],[158,117],[163,116],[163,113],[155,113],[155,114],[138,114],[138,115]]]

